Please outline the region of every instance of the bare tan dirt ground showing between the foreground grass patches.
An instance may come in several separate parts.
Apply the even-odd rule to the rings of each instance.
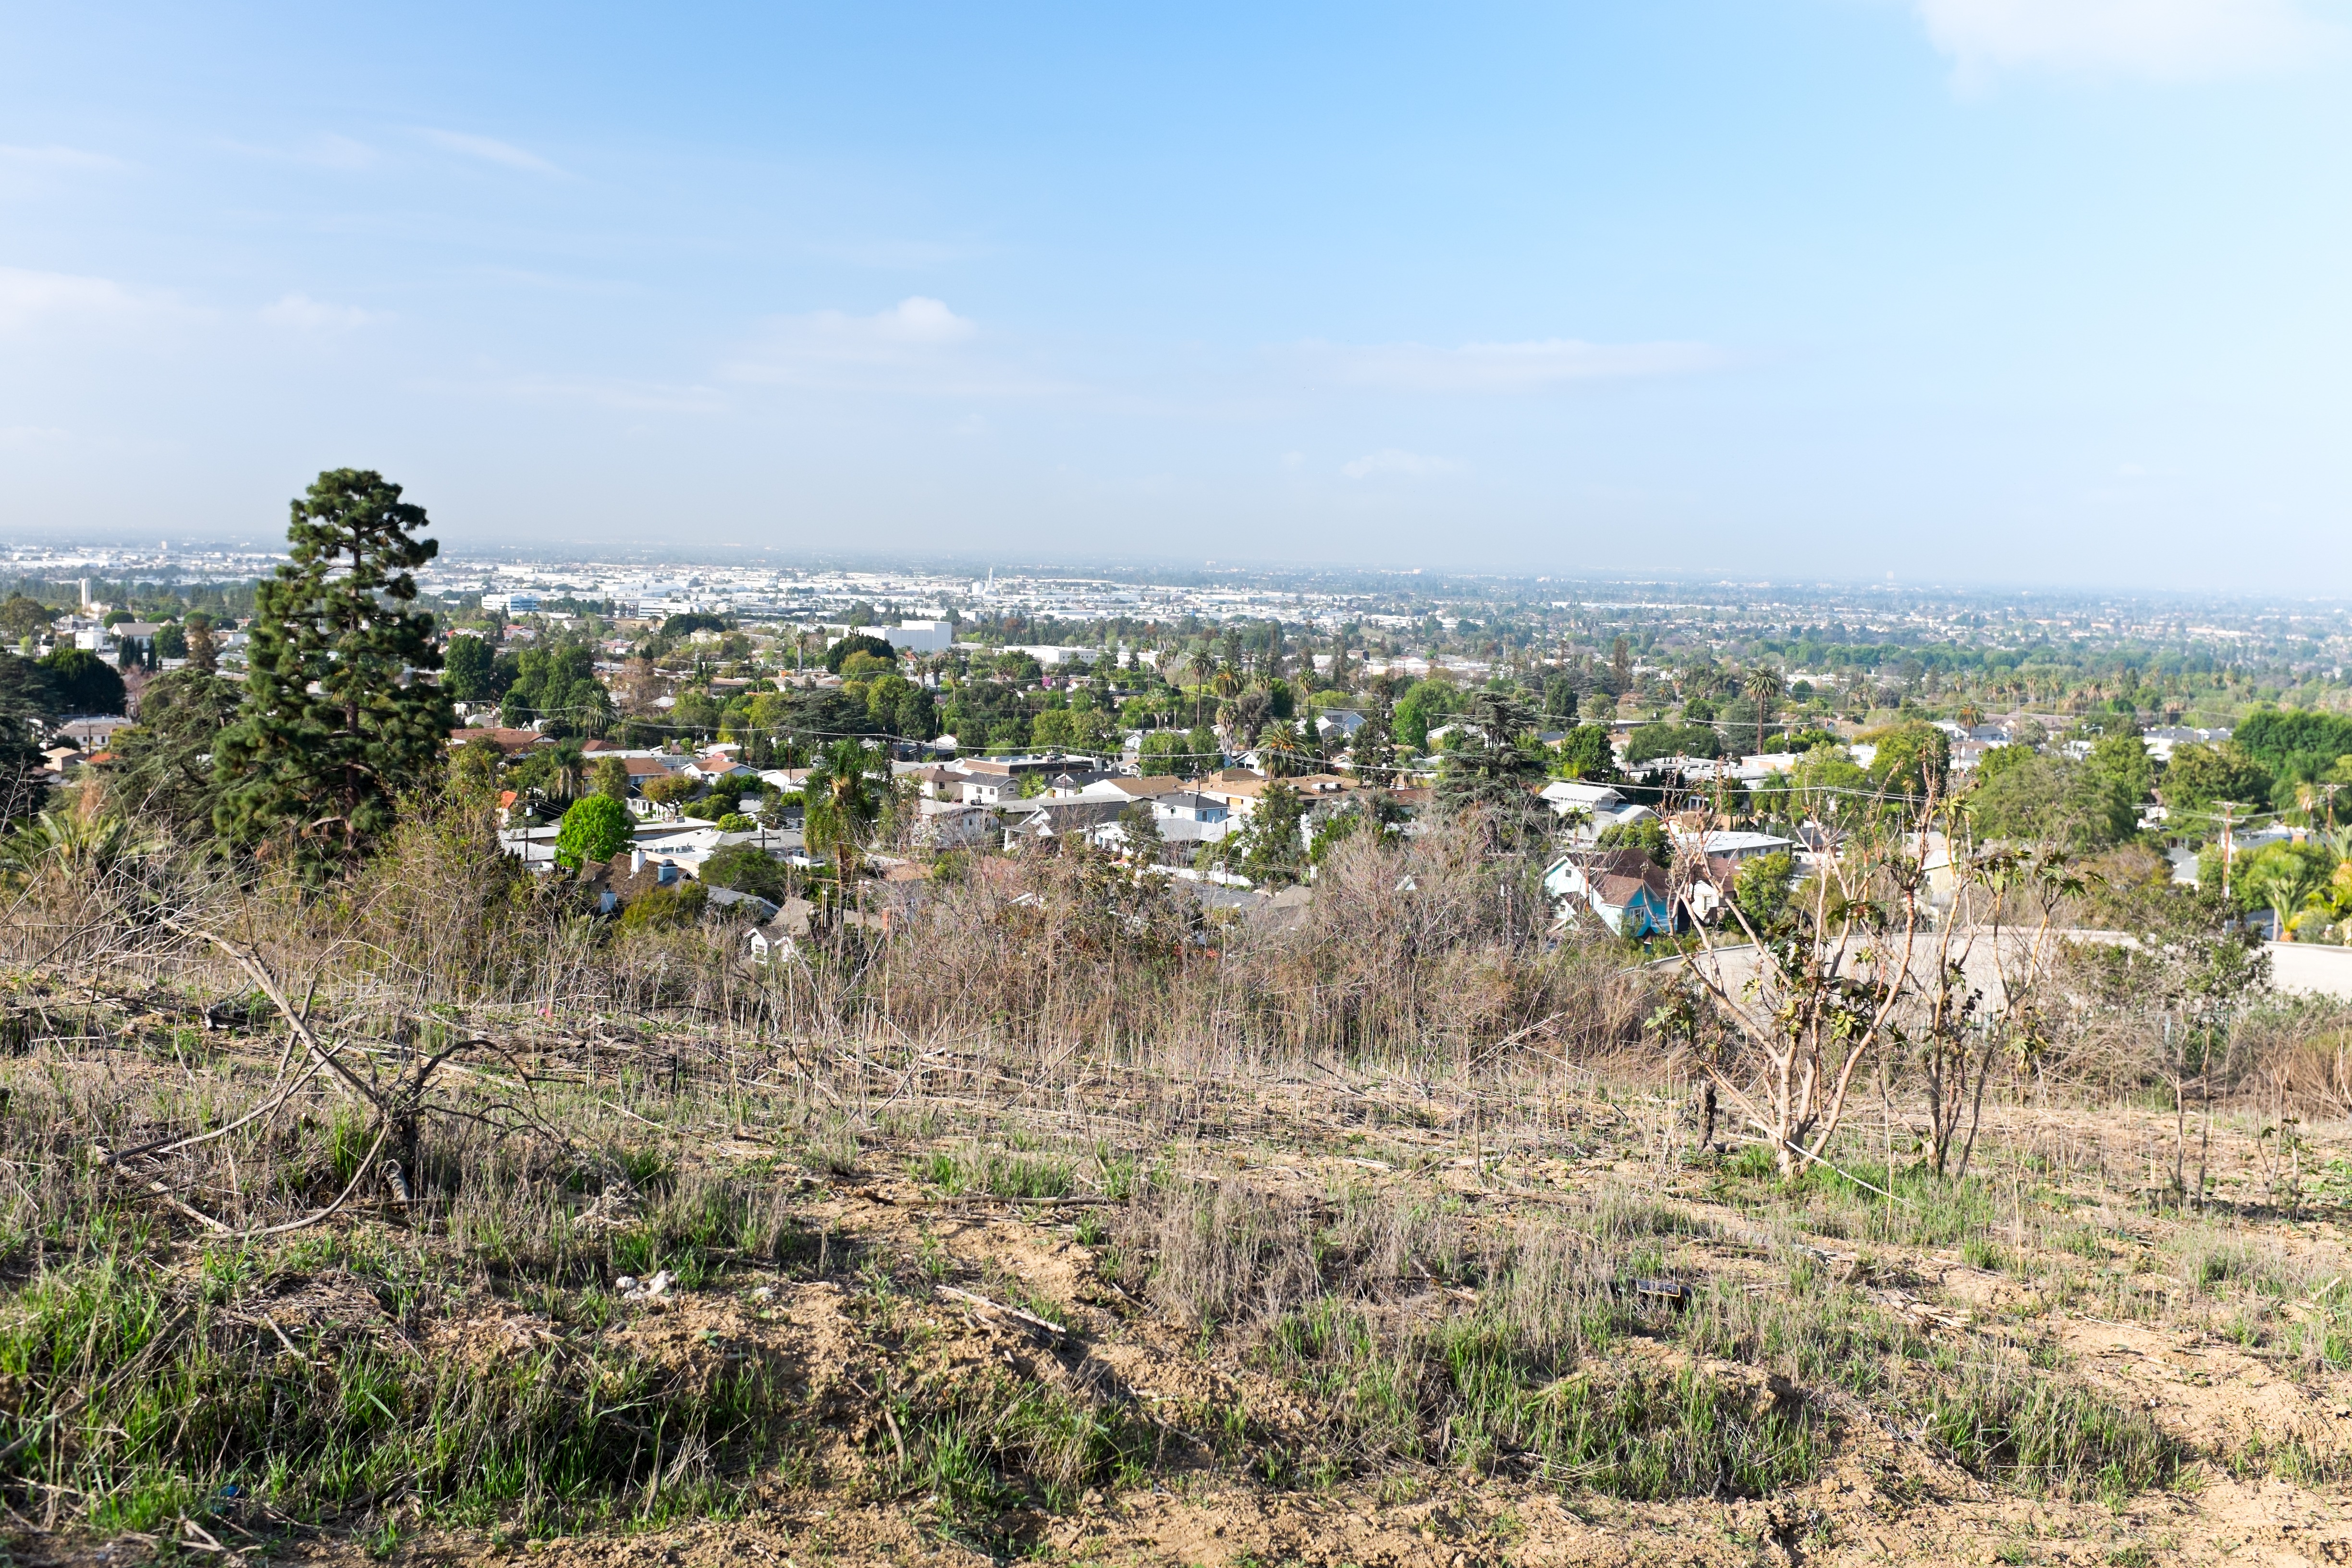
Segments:
[[[1287,1098],[1284,1098],[1287,1095]],[[1378,1135],[1334,1135],[1329,1100],[1305,1086],[1268,1093],[1249,1128],[1181,1145],[1185,1175],[1242,1180],[1298,1194],[1350,1187],[1414,1201],[1446,1201],[1477,1234],[1578,1213],[1602,1192],[1637,1192],[1684,1211],[1693,1232],[1677,1267],[1717,1284],[1776,1288],[1790,1251],[1863,1284],[1872,1300],[1924,1333],[1969,1338],[1980,1326],[2034,1321],[2079,1375],[2126,1408],[2145,1410],[2192,1450],[2180,1479],[2119,1502],[2032,1495],[1980,1479],[1917,1429],[1867,1410],[1839,1410],[1839,1436],[1818,1476],[1771,1497],[1623,1502],[1573,1479],[1501,1467],[1461,1474],[1432,1467],[1265,1486],[1195,1434],[1225,1410],[1247,1410],[1258,1441],[1303,1446],[1331,1413],[1232,1347],[1211,1347],[1105,1274],[1101,1239],[1082,1239],[1087,1206],[950,1197],[910,1168],[915,1143],[870,1140],[851,1173],[802,1178],[797,1220],[861,1258],[927,1258],[934,1281],[736,1272],[701,1291],[623,1305],[612,1345],[666,1363],[757,1359],[788,1368],[793,1392],[816,1415],[818,1446],[795,1476],[762,1481],[724,1519],[593,1535],[508,1537],[414,1521],[390,1535],[294,1530],[266,1542],[118,1535],[113,1540],[26,1530],[12,1561],[127,1563],[158,1554],[186,1561],[235,1556],[320,1563],[485,1563],[546,1568],[621,1563],[971,1563],[1023,1556],[1042,1563],[1136,1563],[1261,1568],[1470,1563],[2352,1563],[2352,1509],[2333,1465],[2352,1455],[2352,1371],[2296,1361],[2260,1338],[2230,1333],[2169,1262],[2211,1215],[2150,1206],[2145,1171],[2173,1138],[2171,1119],[2145,1110],[2032,1110],[2002,1114],[1987,1147],[2016,1168],[2039,1168],[2070,1208],[2027,1213],[1994,1239],[2009,1267],[1980,1267],[1964,1248],[1849,1244],[1835,1225],[1806,1227],[1799,1208],[1759,1206],[1726,1192],[1719,1159],[1677,1147],[1672,1095],[1630,1095],[1569,1112],[1552,1107],[1534,1131],[1496,1133],[1463,1117],[1388,1121]],[[1345,1124],[1345,1119],[1341,1119]],[[1573,1135],[1562,1135],[1569,1128]],[[2345,1244],[2345,1211],[2281,1215],[2263,1208],[2265,1159],[2256,1119],[2223,1119],[2204,1145],[2211,1187],[2227,1194],[2230,1234],[2265,1248],[2296,1279],[2317,1279]],[[1686,1138],[1686,1135],[1684,1135]],[[2352,1154],[2352,1128],[2305,1128],[2307,1159]],[[776,1143],[736,1128],[715,1159],[774,1159]],[[1999,1171],[2009,1171],[2002,1164]],[[2006,1175],[1997,1180],[2009,1180]],[[1818,1215],[1813,1215],[1818,1220]],[[2096,1232],[2077,1241],[2077,1265],[2136,1276],[2164,1309],[2105,1319],[2096,1302],[2046,1300],[2039,1260],[2058,1225]],[[2084,1258],[2086,1251],[2096,1255]],[[2140,1258],[2150,1260],[2147,1265]],[[2133,1274],[2138,1269],[2138,1274]],[[2345,1272],[2352,1272],[2347,1265]],[[946,1281],[955,1284],[946,1284]],[[2161,1288],[2161,1291],[2159,1291]],[[2314,1288],[2331,1298],[2340,1286]],[[1477,1291],[1428,1281],[1399,1309],[1449,1312]],[[1018,1300],[1051,1302],[1040,1326]],[[880,1300],[880,1305],[877,1305]],[[2296,1321],[2326,1300],[2281,1298],[2274,1321]],[[374,1326],[374,1298],[313,1281],[273,1307],[273,1326],[397,1333]],[[891,1331],[877,1333],[877,1314]],[[2223,1314],[2227,1316],[2227,1314]],[[550,1321],[489,1291],[433,1326],[435,1359],[492,1368],[555,1335]],[[1625,1356],[1672,1361],[1665,1345],[1630,1342]],[[1084,1490],[1075,1505],[1035,1512],[995,1544],[943,1528],[922,1495],[877,1495],[856,1476],[868,1455],[898,1441],[875,1401],[877,1375],[1004,1368],[1035,1385],[1115,1389],[1164,1432],[1145,1483]],[[1757,1368],[1710,1368],[1778,1396]],[[2249,1448],[2296,1443],[2321,1455],[2321,1474],[2246,1465]],[[2333,1467],[2333,1469],[2331,1469]],[[31,1523],[19,1516],[19,1526]],[[397,1521],[395,1521],[397,1523]]]

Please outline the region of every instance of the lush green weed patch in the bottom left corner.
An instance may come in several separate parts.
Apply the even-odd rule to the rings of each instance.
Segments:
[[[762,1363],[696,1375],[593,1340],[492,1371],[397,1340],[289,1356],[122,1258],[35,1279],[0,1319],[0,1375],[33,1432],[9,1483],[68,1486],[92,1523],[134,1530],[223,1488],[292,1516],[407,1493],[452,1519],[569,1519],[661,1476],[656,1509],[699,1509],[795,1422]]]

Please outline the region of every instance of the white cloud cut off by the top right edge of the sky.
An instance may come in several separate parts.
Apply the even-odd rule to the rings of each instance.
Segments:
[[[1964,87],[2002,71],[2192,80],[2279,71],[2340,47],[2293,0],[1915,0]]]

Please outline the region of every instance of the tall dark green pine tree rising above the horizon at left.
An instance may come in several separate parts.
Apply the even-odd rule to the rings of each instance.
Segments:
[[[334,468],[294,503],[292,559],[254,595],[245,708],[221,731],[214,827],[322,877],[393,825],[449,752],[433,616],[409,576],[440,552],[383,475]]]

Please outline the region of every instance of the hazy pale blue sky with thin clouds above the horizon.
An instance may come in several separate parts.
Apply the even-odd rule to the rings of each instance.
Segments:
[[[2281,588],[2352,7],[0,7],[0,531]]]

